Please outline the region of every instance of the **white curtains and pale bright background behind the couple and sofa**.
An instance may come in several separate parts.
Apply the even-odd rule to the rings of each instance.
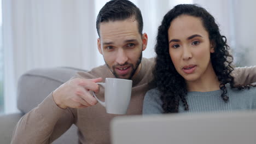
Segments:
[[[97,51],[96,16],[108,0],[3,0],[5,104],[15,105],[18,77],[33,68],[69,66],[91,69],[104,64]],[[220,24],[231,49],[256,64],[256,19],[253,0],[131,0],[142,11],[148,47],[154,57],[155,37],[162,17],[179,3],[198,3]],[[234,6],[234,7],[233,7]],[[240,51],[240,52],[239,52]],[[11,109],[12,110],[12,109]],[[11,111],[10,110],[10,111]]]

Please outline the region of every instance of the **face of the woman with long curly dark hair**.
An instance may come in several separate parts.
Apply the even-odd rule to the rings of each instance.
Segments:
[[[168,29],[168,41],[174,67],[186,81],[196,81],[212,74],[210,53],[214,48],[200,18],[178,16]]]

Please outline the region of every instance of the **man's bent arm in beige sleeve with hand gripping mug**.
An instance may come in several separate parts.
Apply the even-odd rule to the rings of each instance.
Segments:
[[[11,143],[51,143],[74,123],[70,108],[79,109],[97,104],[90,91],[98,92],[96,82],[102,78],[74,77],[48,95],[36,108],[20,119]]]

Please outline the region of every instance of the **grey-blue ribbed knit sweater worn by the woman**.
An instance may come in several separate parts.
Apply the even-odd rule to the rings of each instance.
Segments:
[[[231,89],[227,87],[228,103],[225,103],[221,90],[211,92],[188,92],[186,99],[189,105],[189,111],[184,110],[182,102],[179,103],[179,113],[214,113],[214,112],[231,112],[239,110],[256,109],[256,88],[250,89]],[[158,89],[151,89],[146,93],[143,102],[143,114],[163,113],[162,101]]]

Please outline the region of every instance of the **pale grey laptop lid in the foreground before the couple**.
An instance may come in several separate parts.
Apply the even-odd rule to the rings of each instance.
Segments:
[[[112,144],[256,143],[256,111],[115,117]]]

